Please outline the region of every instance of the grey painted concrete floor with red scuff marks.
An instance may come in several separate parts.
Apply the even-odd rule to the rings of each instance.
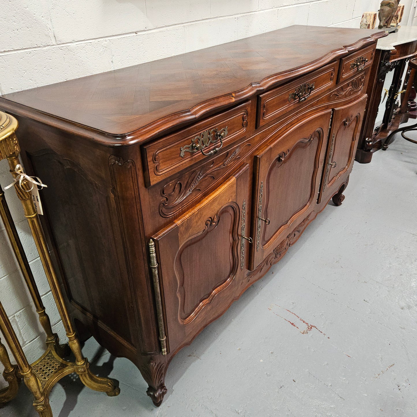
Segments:
[[[414,133],[417,137],[417,132]],[[67,377],[55,417],[417,415],[417,146],[397,137],[354,164],[331,203],[279,264],[171,362],[155,408],[127,359],[90,339],[110,398]],[[35,416],[27,389],[2,417]]]

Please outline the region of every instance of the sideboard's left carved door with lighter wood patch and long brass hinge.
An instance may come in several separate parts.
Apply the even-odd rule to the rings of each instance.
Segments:
[[[249,166],[153,236],[167,333],[174,352],[243,291],[249,258]]]

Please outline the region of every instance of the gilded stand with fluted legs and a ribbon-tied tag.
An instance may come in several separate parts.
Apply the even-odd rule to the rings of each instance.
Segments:
[[[40,359],[30,365],[23,353],[13,327],[10,324],[10,320],[0,303],[0,328],[18,364],[18,369],[13,367],[4,346],[0,344],[0,361],[5,367],[5,377],[9,381],[9,387],[0,392],[0,402],[5,402],[15,396],[17,393],[16,384],[19,383],[19,378],[23,378],[25,384],[35,398],[33,406],[36,411],[41,417],[52,417],[52,411],[49,405],[50,390],[56,382],[65,375],[75,372],[86,387],[94,389],[95,391],[106,392],[108,396],[118,395],[120,389],[118,388],[118,382],[116,380],[95,376],[89,369],[90,364],[88,360],[83,357],[81,352],[80,342],[75,334],[75,329],[68,314],[68,310],[65,307],[63,294],[53,269],[45,236],[40,226],[38,213],[32,201],[32,193],[30,190],[32,189],[33,184],[30,183],[30,178],[22,176],[21,172],[16,172],[16,166],[19,164],[18,156],[20,153],[19,144],[15,136],[17,128],[18,122],[13,116],[0,112],[0,161],[7,158],[10,172],[13,177],[15,179],[20,179],[20,181],[15,182],[15,191],[22,203],[25,217],[28,219],[30,230],[42,261],[43,269],[45,270],[50,289],[68,337],[68,345],[75,356],[75,362],[67,362],[62,359],[62,356],[65,354],[64,348],[59,345],[57,335],[52,333],[49,318],[45,313],[45,307],[40,300],[40,295],[36,288],[35,281],[33,280],[33,275],[29,272],[30,268],[27,259],[24,256],[17,232],[15,232],[14,226],[11,226],[13,221],[2,191],[0,195],[1,217],[3,221],[5,221],[6,230],[12,243],[13,250],[18,258],[20,268],[25,276],[26,284],[29,287],[36,310],[38,311],[40,323],[45,329],[47,349]]]

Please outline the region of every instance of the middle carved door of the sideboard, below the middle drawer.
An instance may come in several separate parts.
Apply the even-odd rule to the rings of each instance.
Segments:
[[[255,155],[250,269],[279,247],[285,250],[289,233],[311,213],[319,192],[331,114],[327,109],[300,121]]]

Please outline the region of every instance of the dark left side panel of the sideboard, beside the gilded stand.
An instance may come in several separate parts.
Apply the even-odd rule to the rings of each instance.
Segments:
[[[72,310],[93,336],[109,334],[112,345],[114,340],[123,345],[122,356],[135,355],[135,307],[111,193],[111,150],[25,118],[18,121],[26,169],[48,185],[40,191],[43,221]]]

